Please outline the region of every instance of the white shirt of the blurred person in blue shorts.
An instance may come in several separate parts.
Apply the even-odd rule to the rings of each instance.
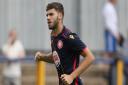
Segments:
[[[106,3],[103,8],[103,17],[105,28],[109,30],[115,37],[119,36],[117,12],[114,5],[110,2]]]

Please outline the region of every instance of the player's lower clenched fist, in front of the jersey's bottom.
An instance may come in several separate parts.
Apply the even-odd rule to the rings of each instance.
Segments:
[[[61,80],[65,85],[70,85],[73,82],[73,77],[71,75],[63,74],[61,75]]]

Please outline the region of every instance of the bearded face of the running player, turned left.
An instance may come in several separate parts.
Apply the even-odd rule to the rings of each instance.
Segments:
[[[46,16],[49,29],[54,30],[58,24],[58,12],[55,9],[50,9]]]

